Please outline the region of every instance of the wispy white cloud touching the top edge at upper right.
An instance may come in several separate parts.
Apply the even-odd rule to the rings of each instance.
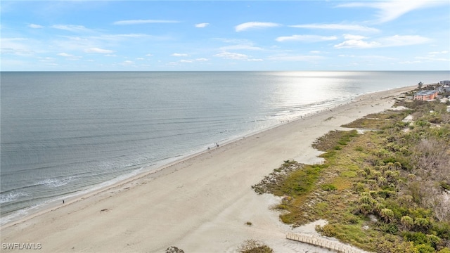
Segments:
[[[378,9],[377,22],[389,22],[395,20],[401,15],[409,13],[418,8],[426,8],[446,4],[446,1],[430,0],[391,0],[391,1],[367,1],[349,4],[340,4],[338,7],[369,7]]]

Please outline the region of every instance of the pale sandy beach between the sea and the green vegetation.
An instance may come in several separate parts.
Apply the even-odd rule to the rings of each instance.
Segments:
[[[251,188],[283,160],[320,162],[311,143],[330,130],[391,108],[415,87],[370,93],[168,164],[1,228],[2,252],[236,252],[255,239],[275,252],[329,252],[285,239],[290,226],[270,209],[272,195]],[[246,223],[250,221],[251,226]],[[315,233],[314,226],[295,228]],[[10,250],[34,243],[41,249]]]

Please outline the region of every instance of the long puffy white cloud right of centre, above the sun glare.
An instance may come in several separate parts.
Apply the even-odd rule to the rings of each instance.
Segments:
[[[365,37],[354,37],[343,41],[340,44],[335,45],[335,48],[380,48],[380,47],[391,47],[391,46],[411,46],[417,44],[424,44],[430,39],[426,37],[421,37],[419,35],[394,35],[392,37],[383,37],[377,41],[364,41]]]

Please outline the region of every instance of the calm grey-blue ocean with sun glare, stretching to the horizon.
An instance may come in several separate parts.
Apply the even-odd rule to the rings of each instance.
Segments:
[[[450,72],[1,72],[1,224],[355,96]],[[314,117],[314,116],[313,116]]]

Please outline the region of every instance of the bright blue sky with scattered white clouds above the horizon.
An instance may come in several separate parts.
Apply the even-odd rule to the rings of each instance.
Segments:
[[[450,1],[1,1],[1,71],[450,70]]]

